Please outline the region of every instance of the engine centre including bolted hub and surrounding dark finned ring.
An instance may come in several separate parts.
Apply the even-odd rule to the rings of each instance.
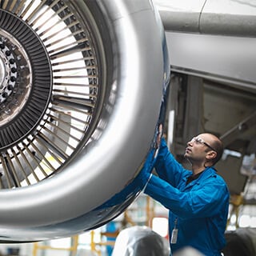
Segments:
[[[50,102],[52,72],[41,39],[21,18],[0,10],[0,150],[31,134]]]

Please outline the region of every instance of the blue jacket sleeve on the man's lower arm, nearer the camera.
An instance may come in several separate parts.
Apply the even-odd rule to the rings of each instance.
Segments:
[[[229,200],[226,183],[216,177],[208,178],[200,188],[182,192],[153,175],[144,193],[162,203],[179,218],[210,217],[219,214],[223,203]]]

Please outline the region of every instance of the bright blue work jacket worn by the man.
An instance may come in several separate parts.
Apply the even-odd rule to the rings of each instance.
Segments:
[[[169,209],[169,233],[176,222],[177,242],[171,250],[192,246],[206,256],[221,255],[229,208],[226,182],[212,167],[186,185],[192,174],[179,164],[162,138],[152,175],[144,192]]]

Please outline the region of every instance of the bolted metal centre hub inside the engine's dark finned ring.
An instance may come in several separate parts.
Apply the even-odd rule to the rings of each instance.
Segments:
[[[2,31],[0,37],[0,126],[13,120],[26,104],[31,90],[31,66],[15,38]]]

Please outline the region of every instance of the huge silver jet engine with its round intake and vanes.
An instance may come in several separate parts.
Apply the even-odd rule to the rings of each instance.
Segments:
[[[169,81],[150,0],[0,2],[0,240],[102,226],[146,185]]]

